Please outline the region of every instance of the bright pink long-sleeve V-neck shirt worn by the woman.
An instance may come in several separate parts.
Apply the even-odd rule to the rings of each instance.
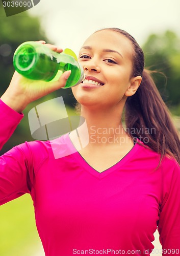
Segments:
[[[23,115],[0,101],[1,147]],[[55,154],[56,153],[56,154]],[[68,153],[68,154],[67,154]],[[55,155],[59,157],[55,157]],[[180,254],[180,167],[136,143],[98,173],[68,134],[15,146],[0,160],[0,204],[30,193],[46,256]]]

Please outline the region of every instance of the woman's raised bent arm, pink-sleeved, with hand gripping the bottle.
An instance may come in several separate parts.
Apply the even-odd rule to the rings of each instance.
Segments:
[[[62,52],[55,46],[47,45]],[[23,109],[39,99],[65,86],[70,71],[62,74],[58,81],[34,81],[14,73],[10,86],[0,100],[0,149],[11,137],[23,117]],[[39,151],[41,153],[41,150]],[[40,158],[41,161],[44,158]],[[15,146],[0,157],[0,205],[24,193],[31,193],[34,179],[34,162],[29,143]]]

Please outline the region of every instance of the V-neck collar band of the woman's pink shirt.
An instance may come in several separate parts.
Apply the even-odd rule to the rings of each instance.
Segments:
[[[127,161],[131,160],[133,155],[138,151],[138,149],[140,147],[140,145],[138,143],[135,143],[135,145],[131,148],[131,150],[122,159],[120,159],[117,163],[115,163],[111,167],[103,170],[102,172],[98,172],[76,150],[76,148],[74,147],[74,145],[69,137],[69,134],[64,135],[64,140],[66,142],[66,145],[69,147],[69,152],[72,152],[72,157],[75,159],[75,161],[79,162],[79,164],[81,165],[81,167],[83,169],[85,169],[87,172],[89,172],[91,175],[93,175],[97,178],[104,178],[107,175],[114,172],[116,169],[120,169],[122,167],[122,165],[124,165]]]

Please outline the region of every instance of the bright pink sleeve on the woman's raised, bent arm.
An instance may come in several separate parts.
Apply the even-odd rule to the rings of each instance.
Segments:
[[[13,134],[22,117],[22,113],[17,113],[0,100],[1,148]],[[33,177],[30,177],[28,172],[28,169],[31,169],[31,161],[27,160],[27,156],[30,155],[28,146],[28,143],[23,143],[0,157],[0,205],[24,193],[30,193]]]

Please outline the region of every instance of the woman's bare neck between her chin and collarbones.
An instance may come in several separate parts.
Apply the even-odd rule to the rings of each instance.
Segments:
[[[88,136],[91,146],[114,146],[130,142],[131,138],[122,125],[122,111],[118,108],[92,110],[82,106],[81,116],[85,118],[86,125],[80,127],[81,135]]]

